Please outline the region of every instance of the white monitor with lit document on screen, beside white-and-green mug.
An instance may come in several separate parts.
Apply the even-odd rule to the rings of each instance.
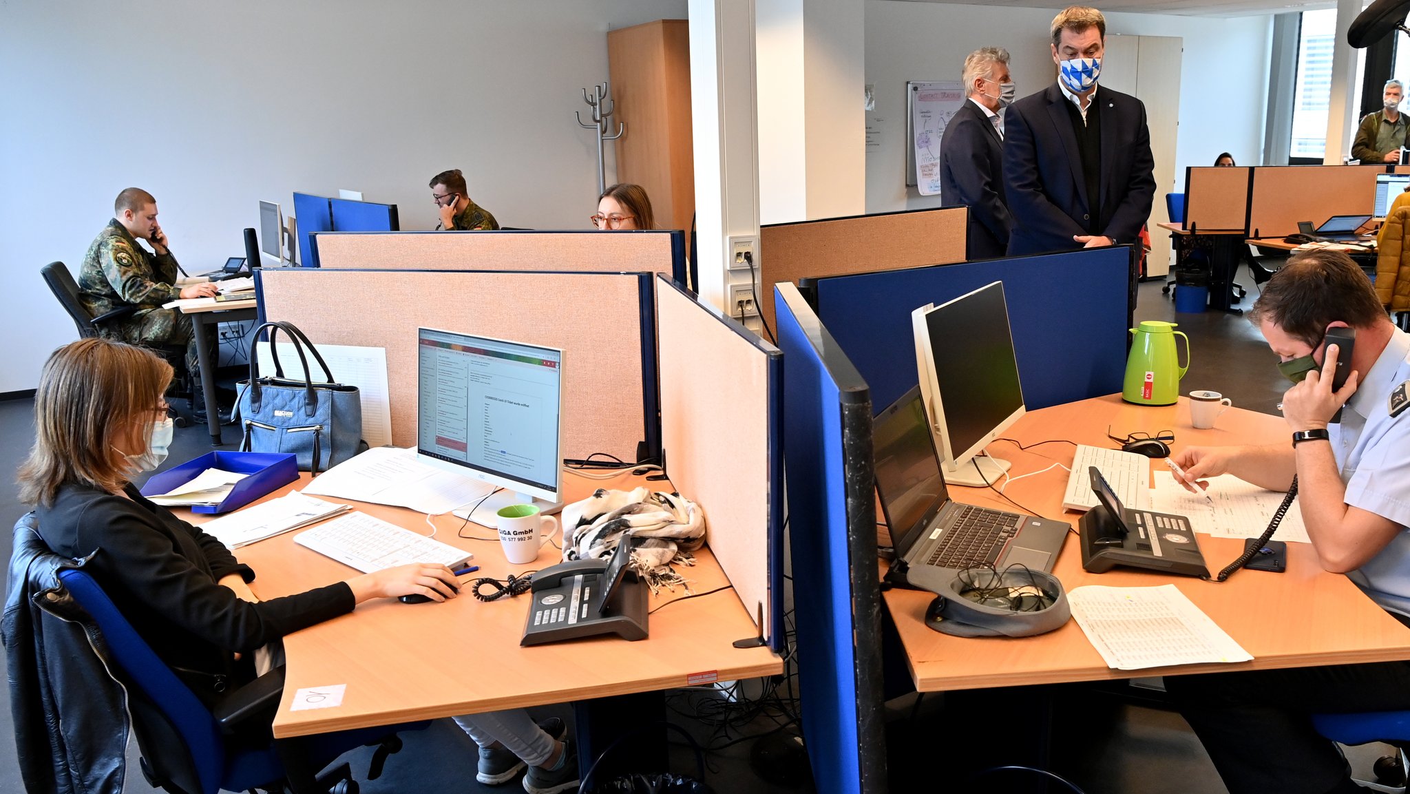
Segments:
[[[455,515],[563,508],[563,351],[417,329],[416,457],[502,488]]]

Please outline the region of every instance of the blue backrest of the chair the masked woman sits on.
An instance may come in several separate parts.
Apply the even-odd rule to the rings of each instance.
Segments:
[[[62,268],[62,265],[59,265]],[[65,271],[68,272],[68,271]],[[137,687],[166,718],[186,742],[186,750],[200,777],[202,791],[217,791],[226,764],[224,739],[206,704],[172,673],[127,618],[117,611],[93,577],[80,570],[65,570],[59,580],[73,599],[93,616],[124,680]],[[173,749],[175,752],[175,749]],[[148,759],[158,763],[157,759]]]

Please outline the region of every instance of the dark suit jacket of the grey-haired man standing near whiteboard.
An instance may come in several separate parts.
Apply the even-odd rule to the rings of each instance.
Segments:
[[[940,199],[970,209],[966,259],[1003,257],[1008,250],[1003,168],[1004,140],[974,100],[966,99],[940,137]]]

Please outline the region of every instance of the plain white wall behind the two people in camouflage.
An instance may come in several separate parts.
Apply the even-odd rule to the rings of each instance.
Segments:
[[[608,78],[606,31],[682,17],[685,0],[0,3],[0,393],[75,334],[39,267],[76,271],[130,185],[193,272],[243,254],[257,202],[288,214],[293,190],[362,190],[431,228],[446,168],[503,224],[587,227],[596,147],[572,113]]]

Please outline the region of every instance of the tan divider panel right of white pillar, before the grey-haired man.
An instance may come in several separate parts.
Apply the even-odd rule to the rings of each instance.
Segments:
[[[774,285],[964,261],[969,207],[774,223],[759,228],[759,299],[773,323]]]

